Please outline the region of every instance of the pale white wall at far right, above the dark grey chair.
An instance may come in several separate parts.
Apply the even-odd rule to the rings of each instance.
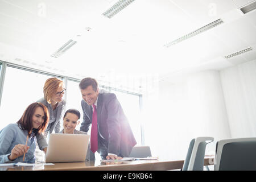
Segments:
[[[256,60],[220,72],[232,138],[256,137]]]

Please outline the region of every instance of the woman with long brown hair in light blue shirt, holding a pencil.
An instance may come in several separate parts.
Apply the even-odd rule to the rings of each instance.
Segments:
[[[0,163],[35,163],[36,135],[46,130],[49,121],[47,107],[34,102],[16,123],[0,131]]]

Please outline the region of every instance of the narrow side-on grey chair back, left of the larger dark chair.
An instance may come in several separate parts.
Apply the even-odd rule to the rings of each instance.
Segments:
[[[191,140],[186,159],[183,164],[183,171],[203,171],[204,155],[206,145],[213,142],[213,137],[198,137]]]

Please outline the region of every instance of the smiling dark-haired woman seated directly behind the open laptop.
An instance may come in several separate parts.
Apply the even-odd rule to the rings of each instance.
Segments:
[[[63,130],[60,133],[63,134],[84,134],[87,133],[84,131],[76,130],[76,126],[79,125],[80,121],[80,112],[76,109],[69,109],[65,112],[63,117]],[[94,154],[90,151],[90,145],[88,144],[88,150],[86,154],[86,160],[95,160]]]

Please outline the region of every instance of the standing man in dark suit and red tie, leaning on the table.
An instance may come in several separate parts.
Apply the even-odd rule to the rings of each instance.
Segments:
[[[79,84],[84,118],[80,130],[91,127],[90,149],[102,159],[121,159],[129,156],[136,140],[122,106],[113,93],[100,93],[94,78],[84,78]]]

